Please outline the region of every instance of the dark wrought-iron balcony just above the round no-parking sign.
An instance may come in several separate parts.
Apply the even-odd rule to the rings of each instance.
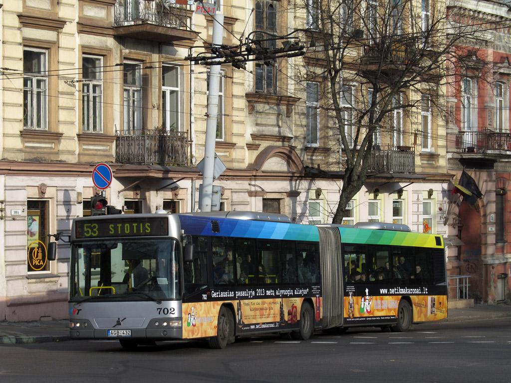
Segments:
[[[117,131],[115,162],[144,165],[188,166],[186,132],[162,129]]]

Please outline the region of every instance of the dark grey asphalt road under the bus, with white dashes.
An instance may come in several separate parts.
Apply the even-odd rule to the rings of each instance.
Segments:
[[[510,382],[511,318],[362,328],[308,341],[244,338],[224,350],[179,341],[0,346],[0,382]]]

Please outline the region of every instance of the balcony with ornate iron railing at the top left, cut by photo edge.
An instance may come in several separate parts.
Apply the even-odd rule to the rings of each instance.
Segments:
[[[117,0],[114,8],[116,36],[169,43],[193,40],[190,6],[163,0]]]

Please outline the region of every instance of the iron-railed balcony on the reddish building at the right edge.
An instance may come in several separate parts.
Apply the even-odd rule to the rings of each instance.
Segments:
[[[465,153],[500,153],[511,151],[511,133],[465,131],[456,134],[456,149]]]

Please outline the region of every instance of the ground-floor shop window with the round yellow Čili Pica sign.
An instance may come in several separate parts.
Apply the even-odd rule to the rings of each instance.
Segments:
[[[27,201],[27,271],[50,271],[48,264],[48,201]]]

